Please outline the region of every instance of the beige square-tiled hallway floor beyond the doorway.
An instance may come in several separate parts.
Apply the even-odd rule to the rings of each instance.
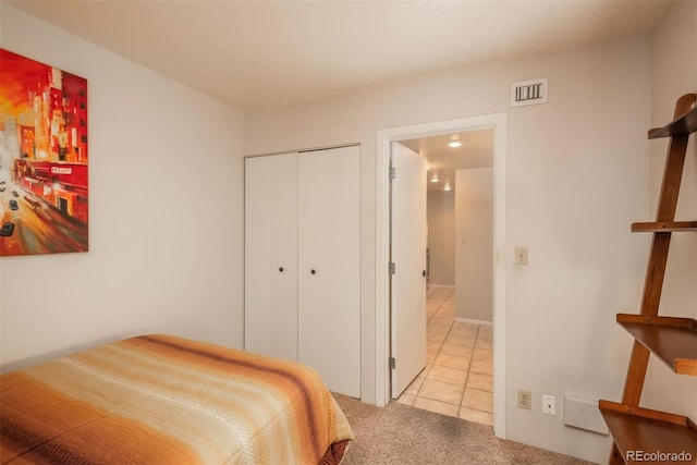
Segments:
[[[490,326],[455,321],[455,291],[427,291],[426,368],[398,402],[493,425],[493,345]]]

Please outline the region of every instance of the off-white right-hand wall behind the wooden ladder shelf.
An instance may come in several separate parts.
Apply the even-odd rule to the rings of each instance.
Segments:
[[[651,85],[651,127],[673,119],[675,100],[684,94],[697,93],[697,2],[678,1],[668,11],[655,34]],[[697,144],[693,135],[677,201],[677,220],[697,219]],[[651,192],[647,219],[653,221],[658,193],[663,176],[668,139],[651,140]],[[645,264],[648,260],[648,246]],[[640,291],[638,291],[640,292]],[[660,315],[697,318],[697,234],[673,234],[668,257]],[[669,394],[670,393],[670,394]],[[673,374],[651,357],[644,384],[643,404],[688,415],[697,420],[697,377]]]

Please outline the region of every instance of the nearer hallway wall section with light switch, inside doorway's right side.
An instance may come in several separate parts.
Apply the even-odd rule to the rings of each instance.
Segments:
[[[455,171],[455,317],[492,322],[493,168]]]

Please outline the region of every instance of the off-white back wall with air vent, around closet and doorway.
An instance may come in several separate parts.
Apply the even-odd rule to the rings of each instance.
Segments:
[[[542,394],[616,399],[636,308],[648,213],[650,37],[493,63],[245,117],[245,154],[362,144],[363,400],[375,402],[376,132],[508,113],[505,399],[509,439],[604,462],[606,436],[540,412]],[[512,82],[549,77],[549,103],[511,109]],[[515,268],[527,245],[531,265]],[[496,331],[496,330],[494,330]],[[516,390],[534,394],[516,408]]]

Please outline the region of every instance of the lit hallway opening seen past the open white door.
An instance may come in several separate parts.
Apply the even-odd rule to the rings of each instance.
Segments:
[[[413,186],[428,186],[421,194],[428,224],[428,365],[396,401],[493,425],[493,129],[399,143],[428,168]],[[408,205],[413,210],[416,203]],[[402,233],[393,227],[392,240],[400,241]],[[394,299],[394,286],[391,292]],[[408,315],[395,316],[395,310],[393,305],[393,320]]]

